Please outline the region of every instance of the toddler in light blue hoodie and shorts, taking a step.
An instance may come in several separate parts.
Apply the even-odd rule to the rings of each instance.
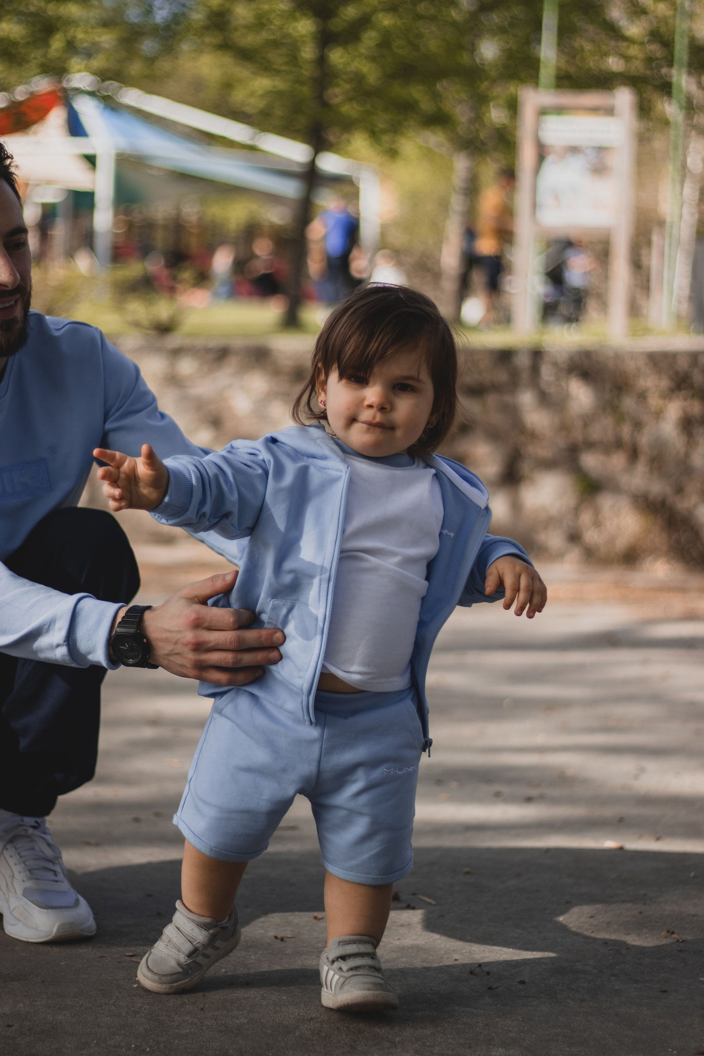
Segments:
[[[532,619],[547,598],[522,547],[488,534],[479,478],[433,453],[456,382],[435,304],[370,284],[326,320],[298,426],[166,463],[149,444],[136,458],[94,451],[114,511],[241,541],[240,578],[220,603],[286,634],[281,663],[254,685],[201,686],[215,699],[174,817],[182,901],[139,965],[148,989],[189,989],[237,945],[247,862],[302,793],[326,872],[322,1002],[397,1007],[376,950],[413,861],[433,644],[457,604],[503,597]]]

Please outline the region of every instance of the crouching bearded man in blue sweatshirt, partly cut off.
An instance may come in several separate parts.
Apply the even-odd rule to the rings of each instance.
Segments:
[[[115,518],[77,506],[91,450],[136,453],[145,437],[164,455],[203,450],[99,331],[31,312],[31,295],[27,229],[0,144],[0,913],[8,936],[50,942],[95,931],[45,818],[93,776],[100,683],[119,665],[110,642],[139,586]],[[132,662],[237,685],[280,659],[281,633],[208,606],[234,574],[137,606],[119,636],[122,646],[140,639]]]

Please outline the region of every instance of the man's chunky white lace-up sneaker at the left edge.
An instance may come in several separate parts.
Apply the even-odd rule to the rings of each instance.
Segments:
[[[85,899],[74,891],[43,817],[0,810],[2,926],[22,942],[62,942],[95,935]]]

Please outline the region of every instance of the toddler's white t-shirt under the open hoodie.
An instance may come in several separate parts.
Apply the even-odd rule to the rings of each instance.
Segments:
[[[323,671],[359,690],[404,690],[427,564],[439,546],[440,485],[420,458],[365,458],[347,450],[350,478]]]

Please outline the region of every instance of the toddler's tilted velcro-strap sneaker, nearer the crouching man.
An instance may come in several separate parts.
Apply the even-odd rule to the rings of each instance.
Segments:
[[[182,994],[192,989],[208,968],[227,957],[241,938],[234,907],[226,920],[218,922],[192,913],[178,901],[173,920],[142,957],[137,979],[155,994]]]

